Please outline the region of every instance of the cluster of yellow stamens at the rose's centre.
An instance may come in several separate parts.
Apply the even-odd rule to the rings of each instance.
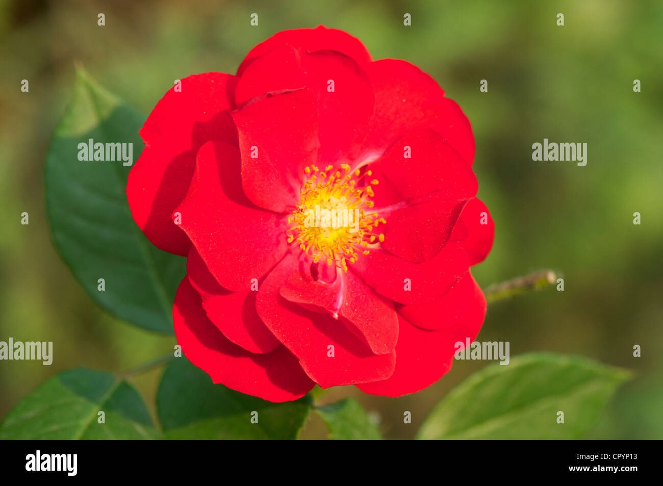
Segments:
[[[371,200],[378,184],[373,179],[369,184],[359,185],[368,178],[371,170],[361,169],[350,173],[348,164],[339,169],[326,166],[324,172],[314,165],[304,168],[304,185],[300,204],[288,216],[288,243],[299,243],[299,247],[313,258],[314,263],[325,259],[328,265],[347,272],[347,263],[355,263],[359,252],[369,254],[369,248],[385,241],[383,233],[373,231],[387,221],[373,208]]]

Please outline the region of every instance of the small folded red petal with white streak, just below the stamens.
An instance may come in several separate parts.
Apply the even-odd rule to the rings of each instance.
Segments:
[[[311,262],[304,262],[304,271]],[[314,281],[308,272],[294,271],[280,294],[305,308],[325,312],[346,324],[375,354],[391,353],[398,340],[398,317],[391,300],[377,294],[355,274],[339,271],[331,283]]]

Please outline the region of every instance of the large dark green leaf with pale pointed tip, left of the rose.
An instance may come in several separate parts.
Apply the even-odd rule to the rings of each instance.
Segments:
[[[46,155],[46,212],[62,259],[101,307],[141,328],[172,333],[172,302],[186,259],[154,247],[133,221],[125,194],[131,166],[78,160],[78,144],[93,139],[133,143],[135,162],[143,121],[78,70],[74,101]],[[97,290],[99,278],[105,291]]]

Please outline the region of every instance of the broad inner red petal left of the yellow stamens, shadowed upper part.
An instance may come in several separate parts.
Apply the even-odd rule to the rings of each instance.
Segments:
[[[178,212],[200,256],[219,284],[247,290],[286,251],[287,221],[256,208],[240,183],[239,151],[224,142],[206,143],[198,152],[191,189]]]

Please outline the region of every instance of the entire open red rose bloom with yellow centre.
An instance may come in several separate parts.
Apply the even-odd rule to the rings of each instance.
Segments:
[[[478,334],[469,267],[493,223],[474,139],[416,66],[341,30],[286,30],[236,76],[182,80],[140,133],[131,212],[188,257],[175,332],[215,383],[274,402],[315,383],[398,396]]]

